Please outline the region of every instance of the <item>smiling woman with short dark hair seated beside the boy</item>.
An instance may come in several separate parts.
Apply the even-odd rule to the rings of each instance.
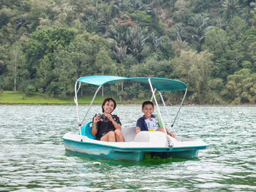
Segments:
[[[121,133],[121,122],[117,115],[111,114],[115,109],[116,101],[107,98],[102,103],[103,114],[94,116],[91,134],[96,136],[97,140],[104,142],[124,142],[124,137]]]

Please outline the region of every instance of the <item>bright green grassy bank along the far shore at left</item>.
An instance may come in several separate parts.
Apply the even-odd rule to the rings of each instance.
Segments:
[[[107,96],[96,96],[94,104],[102,104],[102,101]],[[78,96],[79,104],[90,104],[93,96]],[[118,104],[140,104],[142,101],[129,100],[118,101]],[[1,91],[0,92],[0,104],[75,104],[73,97],[66,99],[59,99],[51,97],[43,93],[23,93],[20,91]]]

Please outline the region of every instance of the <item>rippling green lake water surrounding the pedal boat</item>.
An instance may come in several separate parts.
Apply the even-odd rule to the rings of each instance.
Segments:
[[[99,105],[86,120],[96,112]],[[122,126],[142,115],[137,105],[115,113]],[[78,131],[76,120],[74,105],[0,105],[0,191],[256,191],[256,107],[181,107],[178,136],[211,145],[193,160],[68,155],[60,138]]]

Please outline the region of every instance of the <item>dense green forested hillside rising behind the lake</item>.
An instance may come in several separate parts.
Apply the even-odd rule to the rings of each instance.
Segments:
[[[0,96],[67,99],[78,77],[104,74],[181,80],[187,104],[255,104],[255,70],[252,0],[0,0]],[[104,94],[149,96],[131,82]]]

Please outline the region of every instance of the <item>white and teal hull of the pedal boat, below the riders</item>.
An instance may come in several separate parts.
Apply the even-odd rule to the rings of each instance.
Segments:
[[[161,158],[196,158],[198,150],[209,146],[202,140],[167,138],[160,131],[141,131],[132,141],[127,141],[128,135],[124,132],[126,142],[102,142],[77,133],[67,133],[61,139],[67,153],[125,161],[141,161],[146,153]]]

